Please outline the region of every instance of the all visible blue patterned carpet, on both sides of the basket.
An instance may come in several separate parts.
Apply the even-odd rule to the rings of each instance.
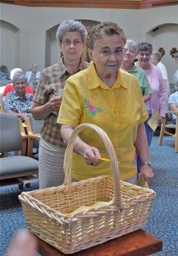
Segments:
[[[151,188],[157,193],[145,231],[163,241],[163,250],[156,256],[178,255],[178,153],[174,151],[174,139],[164,137],[164,145],[158,146],[158,137],[151,143],[151,158],[155,178]],[[38,188],[35,183],[31,188]],[[18,195],[18,186],[1,188],[0,196],[0,255],[5,255],[10,240],[18,229],[25,228],[25,221]],[[141,241],[140,241],[141,242]],[[83,254],[85,256],[85,253]]]

